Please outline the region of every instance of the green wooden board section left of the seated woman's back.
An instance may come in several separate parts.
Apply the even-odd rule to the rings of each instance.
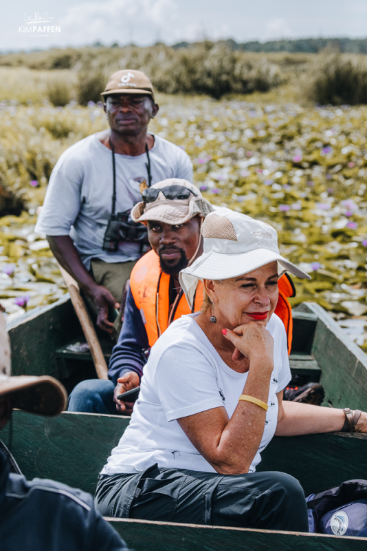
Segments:
[[[12,453],[28,479],[51,478],[94,493],[98,474],[130,417],[62,413],[49,418],[13,412]],[[9,426],[1,431],[8,443]]]

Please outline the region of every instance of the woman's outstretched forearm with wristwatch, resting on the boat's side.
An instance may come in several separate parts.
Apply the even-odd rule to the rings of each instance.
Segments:
[[[345,415],[342,409],[298,404],[282,401],[278,393],[279,413],[276,436],[299,436],[315,433],[333,433],[342,430]],[[367,413],[362,412],[356,426],[357,432],[367,432]]]

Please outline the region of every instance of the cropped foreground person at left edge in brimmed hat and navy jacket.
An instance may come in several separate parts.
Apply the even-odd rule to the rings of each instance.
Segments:
[[[10,346],[0,312],[0,429],[14,408],[54,417],[66,403],[65,388],[53,377],[10,375]],[[128,551],[89,494],[52,480],[27,481],[1,440],[0,517],[1,551]]]

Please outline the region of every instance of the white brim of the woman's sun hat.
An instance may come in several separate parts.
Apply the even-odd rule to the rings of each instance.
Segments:
[[[228,280],[238,278],[270,262],[279,262],[285,270],[298,278],[311,279],[311,276],[270,249],[255,249],[247,253],[222,254],[210,251],[204,253],[188,268],[179,273],[179,281],[192,308],[198,280]]]

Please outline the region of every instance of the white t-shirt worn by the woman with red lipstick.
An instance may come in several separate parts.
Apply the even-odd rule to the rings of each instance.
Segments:
[[[247,373],[237,373],[223,362],[194,321],[196,315],[199,313],[183,315],[173,322],[153,346],[131,422],[102,474],[140,472],[155,463],[160,468],[216,472],[194,448],[176,419],[221,406],[232,417]],[[278,419],[276,393],[291,380],[287,335],[277,315],[271,316],[267,329],[274,338],[274,371],[263,438],[249,472],[254,472],[261,461],[260,452],[274,436]]]

